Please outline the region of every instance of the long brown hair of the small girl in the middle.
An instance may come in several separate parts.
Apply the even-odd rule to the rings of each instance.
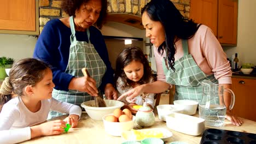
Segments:
[[[144,56],[143,52],[139,47],[129,47],[124,49],[118,56],[116,62],[116,72],[114,76],[114,81],[116,86],[118,86],[117,80],[118,77],[124,82],[124,85],[121,88],[125,88],[127,86],[132,86],[132,80],[129,80],[124,72],[124,67],[130,64],[132,61],[139,61],[143,64],[144,74],[141,80],[138,81],[139,85],[144,83],[149,83],[150,78],[153,77],[152,70],[149,66],[148,59]]]

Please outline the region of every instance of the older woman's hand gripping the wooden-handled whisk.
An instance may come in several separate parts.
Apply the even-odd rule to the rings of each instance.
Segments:
[[[74,77],[68,86],[68,89],[78,90],[80,92],[86,92],[92,96],[97,96],[98,89],[96,87],[96,81],[92,77]]]

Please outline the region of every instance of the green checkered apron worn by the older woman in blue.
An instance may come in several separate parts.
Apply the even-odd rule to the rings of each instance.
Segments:
[[[87,28],[86,32],[88,35],[89,43],[86,41],[77,41],[75,37],[75,28],[73,16],[69,18],[71,27],[71,45],[69,47],[69,59],[65,73],[71,74],[75,77],[84,76],[82,68],[86,68],[89,71],[90,76],[96,81],[96,86],[100,87],[101,80],[105,74],[107,67],[102,61],[100,55],[95,50],[94,45],[90,42],[90,32]],[[73,91],[59,91],[54,89],[53,98],[65,101],[67,103],[75,104],[80,106],[84,101],[92,100],[93,98],[85,92]],[[51,111],[48,118],[60,116],[62,113]]]

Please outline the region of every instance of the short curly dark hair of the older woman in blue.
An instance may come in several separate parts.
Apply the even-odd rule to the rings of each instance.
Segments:
[[[61,3],[61,9],[65,11],[69,16],[75,17],[75,10],[79,9],[81,5],[94,0],[63,0]],[[101,0],[101,12],[95,25],[101,29],[104,19],[107,16],[107,0]]]

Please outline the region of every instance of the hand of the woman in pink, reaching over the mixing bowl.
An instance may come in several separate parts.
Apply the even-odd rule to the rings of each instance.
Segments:
[[[125,99],[127,102],[134,103],[135,99],[133,99],[133,98],[144,93],[144,86],[145,85],[137,86],[137,87],[131,89],[130,91],[123,93],[117,100],[121,100],[124,97],[126,97]]]

